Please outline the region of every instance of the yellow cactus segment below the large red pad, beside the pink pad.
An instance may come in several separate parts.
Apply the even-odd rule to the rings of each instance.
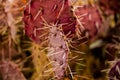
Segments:
[[[32,80],[44,80],[48,79],[50,72],[45,72],[50,68],[48,58],[45,53],[45,48],[40,47],[40,45],[33,43],[32,46],[32,55],[33,55],[33,64],[35,66],[35,72],[32,76]]]

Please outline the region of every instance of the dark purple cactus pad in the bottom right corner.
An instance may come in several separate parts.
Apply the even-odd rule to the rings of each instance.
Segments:
[[[115,65],[109,71],[110,80],[120,80],[120,61],[117,61]]]

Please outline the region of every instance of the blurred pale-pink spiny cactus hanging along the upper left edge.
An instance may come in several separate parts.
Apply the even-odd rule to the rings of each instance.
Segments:
[[[23,4],[19,0],[1,0],[0,2],[0,36],[2,37],[0,45],[5,52],[5,58],[11,59],[17,54],[16,49],[20,47],[18,32],[21,27],[19,23],[22,21],[22,12],[19,13],[19,11],[22,6]]]

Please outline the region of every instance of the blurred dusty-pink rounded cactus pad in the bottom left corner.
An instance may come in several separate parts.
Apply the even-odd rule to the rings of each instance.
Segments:
[[[0,73],[3,80],[26,80],[17,65],[11,61],[0,62]]]

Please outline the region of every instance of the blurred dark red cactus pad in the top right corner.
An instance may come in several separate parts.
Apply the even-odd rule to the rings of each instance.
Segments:
[[[101,9],[106,14],[113,14],[120,12],[120,0],[99,0]]]

